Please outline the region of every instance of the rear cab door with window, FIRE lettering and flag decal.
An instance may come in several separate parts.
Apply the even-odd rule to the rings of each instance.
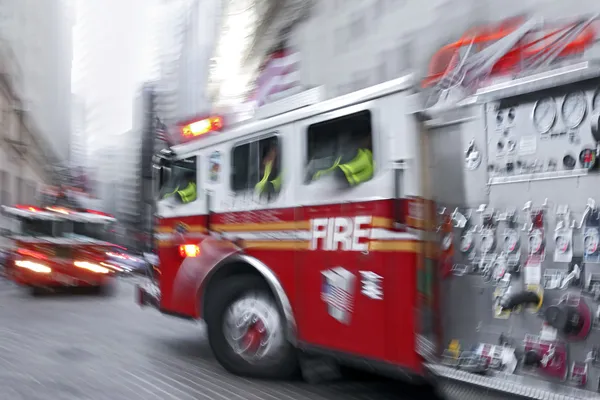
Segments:
[[[309,346],[382,359],[385,304],[378,294],[383,280],[377,277],[383,266],[369,248],[372,199],[382,185],[375,179],[373,160],[370,173],[365,165],[354,165],[353,176],[335,168],[351,163],[359,150],[377,157],[372,106],[347,107],[298,124],[304,168],[298,177],[297,218],[309,230],[308,249],[297,253],[298,329]],[[362,180],[351,184],[356,177]],[[375,290],[363,290],[367,282]]]

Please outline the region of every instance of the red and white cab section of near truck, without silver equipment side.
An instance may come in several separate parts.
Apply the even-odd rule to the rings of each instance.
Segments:
[[[183,124],[192,140],[155,159],[159,273],[139,303],[204,320],[236,374],[286,377],[301,354],[425,377],[439,338],[413,85]]]

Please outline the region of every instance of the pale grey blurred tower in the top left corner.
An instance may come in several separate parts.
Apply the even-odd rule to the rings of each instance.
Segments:
[[[56,162],[68,158],[72,60],[72,8],[63,1],[0,2],[0,37],[21,67],[16,84],[23,108],[44,136]]]

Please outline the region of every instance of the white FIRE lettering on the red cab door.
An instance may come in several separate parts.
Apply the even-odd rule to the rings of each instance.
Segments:
[[[368,238],[371,234],[371,228],[365,227],[371,224],[370,216],[315,218],[310,222],[311,250],[369,250],[369,244],[361,242],[361,239]]]

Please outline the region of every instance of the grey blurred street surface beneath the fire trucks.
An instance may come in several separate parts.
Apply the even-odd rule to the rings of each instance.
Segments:
[[[215,361],[201,324],[134,303],[132,280],[112,297],[34,298],[0,277],[0,399],[419,399],[391,381],[252,381]],[[448,399],[506,399],[446,385]]]

